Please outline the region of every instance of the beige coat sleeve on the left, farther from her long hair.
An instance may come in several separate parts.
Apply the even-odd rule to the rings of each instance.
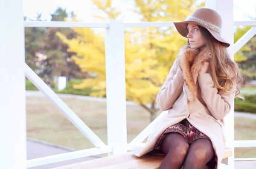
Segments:
[[[177,62],[176,59],[162,88],[157,94],[157,105],[162,111],[172,108],[183,88],[182,70],[180,70]]]

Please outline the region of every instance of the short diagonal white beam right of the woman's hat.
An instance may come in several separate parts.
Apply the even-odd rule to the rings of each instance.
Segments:
[[[256,26],[250,28],[234,45],[234,54],[239,51],[254,35],[256,34]]]

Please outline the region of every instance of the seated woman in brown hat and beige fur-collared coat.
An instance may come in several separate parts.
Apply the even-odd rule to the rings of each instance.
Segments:
[[[138,157],[166,155],[159,169],[217,169],[225,150],[223,118],[239,94],[239,69],[227,52],[230,44],[220,35],[217,12],[198,8],[174,24],[188,44],[180,49],[157,95],[160,110],[168,114],[146,145],[133,151]]]

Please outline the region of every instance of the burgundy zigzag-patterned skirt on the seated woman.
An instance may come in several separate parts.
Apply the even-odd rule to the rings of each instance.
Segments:
[[[186,141],[189,143],[189,145],[191,145],[194,141],[196,141],[196,140],[198,140],[200,138],[209,139],[209,137],[207,135],[205,135],[204,133],[202,133],[199,130],[197,130],[185,118],[184,120],[180,121],[179,123],[174,124],[174,125],[168,127],[163,132],[163,134],[160,136],[159,140],[157,141],[157,143],[154,146],[154,149],[151,152],[149,152],[149,154],[164,155],[163,152],[161,151],[161,144],[163,143],[163,139],[166,137],[166,135],[169,132],[180,133],[181,135],[183,135],[184,138],[186,138]],[[212,160],[209,163],[207,163],[208,168],[215,169],[215,165],[217,163],[216,160],[217,160],[217,158],[213,157]]]

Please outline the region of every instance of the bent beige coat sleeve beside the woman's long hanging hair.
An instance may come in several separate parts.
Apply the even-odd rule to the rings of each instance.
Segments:
[[[198,76],[198,85],[201,88],[201,96],[207,108],[214,118],[223,119],[231,110],[236,94],[236,78],[233,78],[233,87],[229,93],[218,90],[209,73]]]

